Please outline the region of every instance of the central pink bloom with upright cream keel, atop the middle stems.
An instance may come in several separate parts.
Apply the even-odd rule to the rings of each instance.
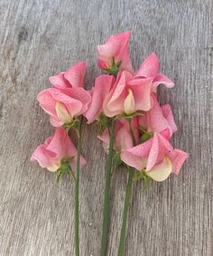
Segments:
[[[138,110],[148,111],[152,106],[151,90],[151,79],[134,80],[128,71],[118,73],[116,84],[104,101],[106,117],[131,116]]]

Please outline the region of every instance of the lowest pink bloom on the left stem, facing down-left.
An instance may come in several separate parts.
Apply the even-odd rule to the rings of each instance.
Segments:
[[[44,144],[35,149],[31,160],[36,160],[43,168],[51,172],[60,169],[61,161],[67,161],[72,170],[76,169],[77,150],[69,135],[63,128],[57,128],[53,137],[48,137]],[[80,166],[86,165],[86,160],[80,157]]]

